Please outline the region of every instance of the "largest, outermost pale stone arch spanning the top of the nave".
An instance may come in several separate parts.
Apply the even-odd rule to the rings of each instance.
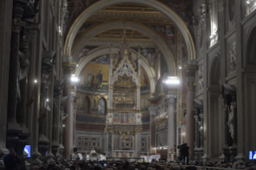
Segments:
[[[67,38],[65,41],[63,55],[71,56],[71,48],[73,46],[73,42],[75,40],[75,34],[77,34],[79,28],[83,26],[83,23],[87,21],[92,14],[95,14],[96,11],[103,9],[107,6],[113,6],[122,2],[134,2],[137,4],[141,4],[144,6],[150,6],[156,10],[161,11],[168,18],[172,19],[176,24],[177,28],[181,31],[181,34],[185,38],[185,43],[189,51],[189,63],[191,60],[196,59],[196,50],[193,42],[193,38],[185,25],[185,22],[181,19],[181,17],[169,6],[166,6],[164,3],[156,2],[156,0],[101,0],[100,2],[96,2],[91,7],[84,10],[82,14],[79,15],[78,18],[75,19],[75,22],[72,24],[70,30],[68,31]]]

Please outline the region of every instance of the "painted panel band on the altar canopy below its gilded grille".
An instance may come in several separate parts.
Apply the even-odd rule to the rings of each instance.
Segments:
[[[114,113],[113,123],[135,124],[136,113]]]

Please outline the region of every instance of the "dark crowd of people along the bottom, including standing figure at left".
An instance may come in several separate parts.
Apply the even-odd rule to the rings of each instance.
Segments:
[[[153,155],[152,155],[153,156]],[[152,156],[150,156],[152,158]],[[83,157],[83,156],[82,156]],[[154,157],[154,156],[153,156]],[[155,155],[157,157],[157,155]],[[10,149],[10,154],[4,157],[4,164],[7,170],[26,169],[24,166],[19,167],[20,161],[14,152]],[[59,160],[53,164],[43,164],[41,167],[34,166],[32,170],[201,170],[208,168],[232,168],[256,170],[256,164],[241,162],[238,164],[226,163],[224,161],[190,161],[185,165],[184,162],[174,160],[167,162],[165,160],[152,159],[151,162],[135,161],[128,162],[127,160],[87,160],[81,156],[71,157],[70,160]]]

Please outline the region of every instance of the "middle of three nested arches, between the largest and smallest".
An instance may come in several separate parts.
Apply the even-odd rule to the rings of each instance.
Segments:
[[[146,34],[149,38],[152,38],[156,44],[159,44],[159,47],[165,56],[166,62],[168,64],[168,71],[169,75],[176,75],[176,62],[173,57],[173,52],[170,50],[168,43],[165,41],[164,38],[161,37],[160,34],[158,34],[155,30],[152,30],[151,28],[147,26],[143,26],[134,22],[126,22],[125,27],[128,29],[136,30],[139,32],[142,32]],[[90,30],[85,32],[81,38],[77,42],[75,42],[75,46],[72,49],[71,55],[73,56],[73,60],[79,56],[80,51],[82,51],[85,44],[93,38],[96,34],[99,34],[100,32],[103,32],[104,30],[110,30],[114,28],[124,28],[124,22],[108,22],[103,23],[101,25],[97,25],[95,27],[92,27]],[[87,34],[90,32],[90,34]]]

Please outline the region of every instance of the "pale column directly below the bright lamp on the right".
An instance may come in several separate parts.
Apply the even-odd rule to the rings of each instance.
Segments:
[[[176,108],[176,98],[177,95],[166,95],[165,99],[168,103],[168,157],[171,160],[171,155],[169,152],[175,151],[176,146],[176,119],[175,119],[175,108]]]

